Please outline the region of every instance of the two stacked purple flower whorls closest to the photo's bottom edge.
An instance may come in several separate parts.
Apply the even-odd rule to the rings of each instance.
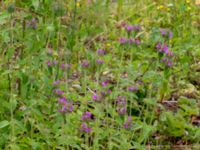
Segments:
[[[91,112],[84,112],[81,120],[84,121],[81,124],[81,131],[84,133],[90,133],[92,131],[92,127],[89,127],[89,125],[87,124],[88,121],[90,121],[92,119],[92,113]]]

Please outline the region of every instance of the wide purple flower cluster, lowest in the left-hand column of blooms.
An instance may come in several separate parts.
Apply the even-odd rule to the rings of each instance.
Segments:
[[[58,103],[61,106],[61,109],[58,110],[59,112],[61,112],[61,113],[66,113],[66,112],[71,113],[73,111],[73,103],[68,102],[65,97],[59,98]]]

